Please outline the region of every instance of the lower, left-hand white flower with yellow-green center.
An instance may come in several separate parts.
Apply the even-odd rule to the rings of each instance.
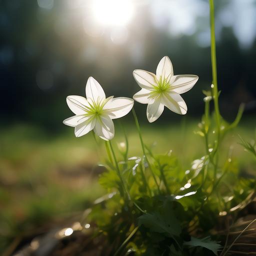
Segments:
[[[106,98],[100,84],[91,76],[87,80],[85,94],[87,99],[76,95],[67,96],[67,105],[75,115],[65,119],[63,123],[75,127],[76,137],[93,129],[104,140],[113,138],[112,119],[127,114],[133,106],[133,99],[113,96]]]

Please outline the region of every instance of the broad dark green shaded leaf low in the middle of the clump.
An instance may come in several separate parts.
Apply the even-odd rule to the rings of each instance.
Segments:
[[[164,233],[168,237],[179,235],[181,227],[174,215],[172,203],[166,203],[159,211],[145,213],[138,217],[138,224],[144,225],[152,232]]]

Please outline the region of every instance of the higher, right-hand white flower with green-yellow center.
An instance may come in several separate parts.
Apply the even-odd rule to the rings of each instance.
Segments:
[[[141,90],[133,98],[147,105],[146,115],[149,122],[155,121],[162,113],[164,106],[178,114],[185,114],[186,103],[179,95],[191,89],[198,80],[197,75],[173,75],[170,59],[163,57],[156,68],[156,75],[136,69],[133,76]]]

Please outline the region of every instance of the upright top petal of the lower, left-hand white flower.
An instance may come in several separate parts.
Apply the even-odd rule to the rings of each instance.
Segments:
[[[105,92],[103,91],[100,84],[93,78],[89,77],[85,86],[86,98],[92,99],[94,102],[97,100],[105,99]]]

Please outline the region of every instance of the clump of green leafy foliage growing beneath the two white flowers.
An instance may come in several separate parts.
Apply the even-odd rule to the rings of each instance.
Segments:
[[[89,219],[96,223],[99,233],[107,235],[111,253],[124,255],[129,250],[135,255],[217,255],[221,245],[214,240],[223,241],[215,229],[220,218],[235,217],[251,200],[256,182],[240,177],[237,161],[229,154],[219,160],[224,134],[209,136],[215,129],[214,115],[205,116],[207,113],[201,123],[201,132],[207,138],[205,155],[188,166],[183,167],[172,151],[154,154],[145,146],[147,157],[130,158],[127,151],[120,151],[122,160],[117,164],[123,189],[117,166],[108,163],[99,183],[111,192],[110,196],[92,208]],[[211,144],[208,139],[214,140],[214,136],[217,141]]]

